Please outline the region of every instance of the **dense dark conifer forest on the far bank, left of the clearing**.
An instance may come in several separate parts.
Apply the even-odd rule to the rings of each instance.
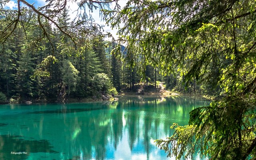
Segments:
[[[7,14],[0,22],[5,32],[1,37],[0,102],[64,102],[68,98],[98,97],[104,92],[117,94],[140,82],[136,70],[111,52],[120,47],[119,52],[125,54],[124,46],[104,41],[96,26],[73,24],[64,9],[58,19],[60,31],[48,20],[38,22],[34,12],[24,8],[24,19],[12,30],[16,12],[4,11]],[[77,36],[73,34],[82,36],[73,41],[70,35]],[[153,81],[153,69],[149,69],[147,76]]]

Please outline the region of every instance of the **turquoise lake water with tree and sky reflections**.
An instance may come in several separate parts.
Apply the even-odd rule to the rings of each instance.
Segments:
[[[124,96],[116,102],[0,105],[0,159],[175,160],[154,140],[171,136],[174,122],[188,124],[191,110],[209,104],[183,96]]]

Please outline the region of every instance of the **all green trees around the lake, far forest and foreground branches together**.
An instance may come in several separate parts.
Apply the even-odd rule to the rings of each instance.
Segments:
[[[256,159],[255,0],[47,0],[38,8],[17,0],[13,10],[8,2],[0,2],[0,103],[100,98],[164,81],[215,98],[156,140],[167,156]],[[69,2],[78,4],[74,19]]]

